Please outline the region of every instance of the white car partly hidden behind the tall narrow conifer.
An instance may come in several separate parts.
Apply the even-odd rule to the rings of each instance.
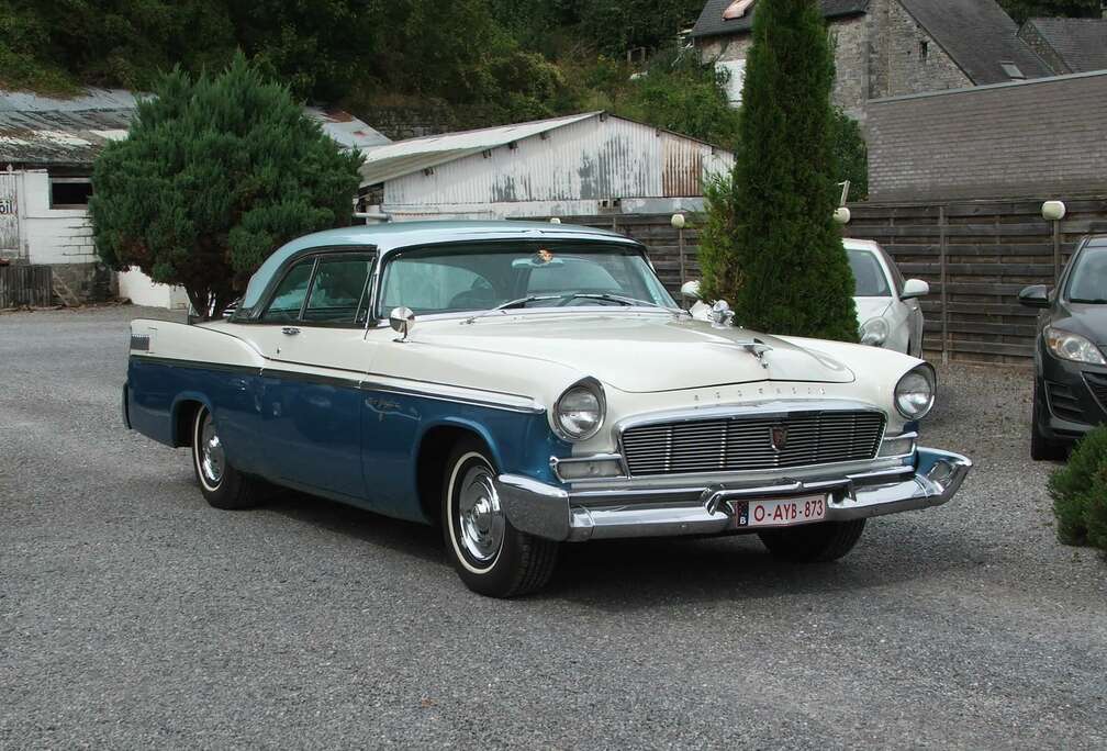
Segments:
[[[896,262],[871,240],[845,240],[849,265],[857,280],[853,302],[861,344],[883,347],[913,357],[922,356],[923,317],[919,298],[930,294],[921,279],[903,279]],[[683,292],[699,299],[700,283],[689,282]],[[692,315],[711,319],[711,306],[697,301]]]

